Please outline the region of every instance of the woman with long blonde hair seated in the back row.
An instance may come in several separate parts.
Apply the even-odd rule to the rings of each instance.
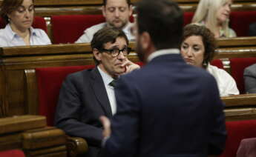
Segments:
[[[236,37],[234,30],[229,28],[231,5],[232,0],[200,0],[192,23],[205,25],[215,38]]]

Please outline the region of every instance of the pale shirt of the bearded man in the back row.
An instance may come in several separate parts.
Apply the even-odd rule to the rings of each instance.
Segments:
[[[92,27],[89,27],[88,29],[86,29],[84,31],[84,34],[82,36],[80,36],[80,38],[76,41],[76,43],[88,43],[91,42],[91,40],[93,39],[93,35],[94,33],[96,33],[98,30],[102,29],[103,27],[106,27],[107,23],[101,23],[101,24],[96,24]],[[131,27],[132,27],[132,23],[128,22],[128,24],[126,24],[126,26],[122,29],[122,31],[125,33],[125,35],[127,36],[129,41],[133,41],[135,39],[135,37],[133,35],[131,35]]]

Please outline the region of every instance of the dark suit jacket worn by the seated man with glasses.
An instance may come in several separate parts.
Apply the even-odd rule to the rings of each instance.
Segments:
[[[102,142],[99,116],[112,117],[108,95],[99,70],[70,74],[62,84],[56,109],[56,127],[69,136],[88,141],[88,156],[97,156]]]

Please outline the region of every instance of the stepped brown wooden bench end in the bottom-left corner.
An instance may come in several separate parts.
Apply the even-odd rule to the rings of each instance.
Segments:
[[[47,127],[44,116],[0,118],[0,151],[23,150],[26,156],[67,156],[62,130]]]

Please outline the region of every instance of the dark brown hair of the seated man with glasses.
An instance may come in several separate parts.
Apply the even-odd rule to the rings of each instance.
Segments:
[[[128,38],[122,30],[114,27],[103,27],[93,35],[93,39],[91,41],[91,49],[93,50],[96,48],[97,50],[103,50],[105,48],[104,44],[108,42],[114,43],[119,37],[124,38],[126,43],[129,44]],[[94,56],[93,59],[96,65],[99,64],[99,61],[97,61]]]

